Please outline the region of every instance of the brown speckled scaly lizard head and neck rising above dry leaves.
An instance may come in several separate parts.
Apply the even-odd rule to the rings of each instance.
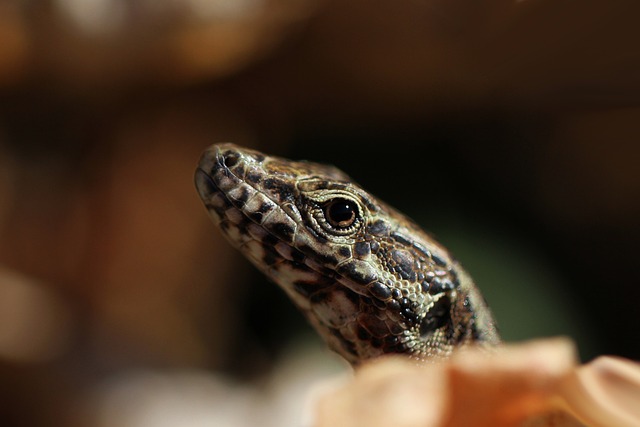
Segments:
[[[499,342],[449,252],[340,170],[220,144],[205,151],[195,181],[227,239],[350,363]]]

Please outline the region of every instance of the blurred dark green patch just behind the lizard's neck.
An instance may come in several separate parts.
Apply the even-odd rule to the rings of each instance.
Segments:
[[[442,221],[436,233],[481,286],[505,341],[564,335],[576,341],[583,359],[598,354],[601,337],[589,333],[582,297],[570,292],[548,253],[499,223],[454,217],[460,221]]]

